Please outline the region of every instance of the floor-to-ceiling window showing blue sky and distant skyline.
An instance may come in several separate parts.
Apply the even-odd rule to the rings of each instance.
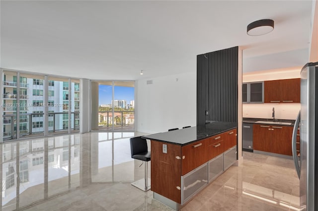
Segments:
[[[92,130],[134,131],[135,81],[93,81],[91,122]]]

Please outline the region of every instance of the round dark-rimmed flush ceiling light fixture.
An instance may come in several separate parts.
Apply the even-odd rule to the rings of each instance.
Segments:
[[[270,33],[274,30],[274,21],[271,19],[256,20],[247,25],[247,34],[259,36]]]

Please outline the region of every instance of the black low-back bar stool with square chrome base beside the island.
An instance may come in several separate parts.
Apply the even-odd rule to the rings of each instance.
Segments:
[[[151,160],[151,152],[148,151],[147,140],[142,139],[141,136],[130,138],[130,152],[131,158],[142,160],[143,163],[145,161],[145,178],[131,184],[143,191],[148,191],[151,188],[150,178],[148,178],[148,161]]]

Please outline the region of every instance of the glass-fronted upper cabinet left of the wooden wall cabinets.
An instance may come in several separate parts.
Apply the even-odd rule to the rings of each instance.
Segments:
[[[263,103],[263,82],[250,82],[242,84],[243,103]]]

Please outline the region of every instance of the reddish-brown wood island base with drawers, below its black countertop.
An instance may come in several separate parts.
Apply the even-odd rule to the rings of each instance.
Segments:
[[[190,200],[224,171],[224,163],[229,167],[236,161],[236,132],[184,146],[151,139],[151,190],[181,205]]]

